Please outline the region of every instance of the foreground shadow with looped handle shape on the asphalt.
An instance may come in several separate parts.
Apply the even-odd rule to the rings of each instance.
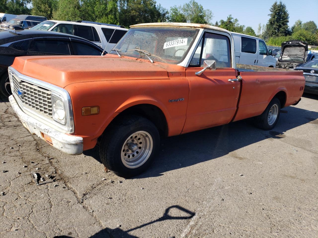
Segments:
[[[179,213],[179,215],[171,215],[171,213]],[[180,214],[181,213],[181,214]],[[159,221],[166,221],[166,220],[186,220],[186,219],[191,219],[195,215],[194,212],[189,211],[186,208],[183,208],[178,205],[170,206],[167,208],[162,215],[162,217],[159,217],[158,219],[154,221],[149,221],[148,223],[142,224],[138,227],[131,228],[129,230],[122,230],[121,228],[115,228],[115,229],[110,229],[110,228],[104,228],[97,232],[96,234],[90,236],[90,238],[104,238],[104,237],[109,237],[109,234],[111,237],[123,237],[123,238],[138,238],[137,236],[134,235],[129,235],[128,233],[137,229],[140,229],[142,227],[148,226],[150,224],[153,224],[155,222]],[[54,236],[53,238],[73,238],[71,236],[67,235],[61,235],[61,236]]]

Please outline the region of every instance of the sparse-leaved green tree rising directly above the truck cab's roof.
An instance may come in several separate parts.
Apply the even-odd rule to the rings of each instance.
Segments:
[[[187,22],[199,24],[212,24],[213,13],[204,9],[194,0],[184,3],[183,6],[173,6],[169,12],[169,22]]]

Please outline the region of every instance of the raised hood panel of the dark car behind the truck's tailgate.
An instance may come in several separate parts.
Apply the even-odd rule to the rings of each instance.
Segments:
[[[308,44],[299,40],[287,41],[281,44],[281,51],[279,61],[304,63],[307,58]]]

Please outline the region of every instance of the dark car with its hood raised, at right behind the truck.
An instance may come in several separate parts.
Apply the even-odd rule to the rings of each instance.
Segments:
[[[306,63],[308,44],[300,40],[286,41],[281,44],[280,57],[276,68],[294,69],[297,65]]]

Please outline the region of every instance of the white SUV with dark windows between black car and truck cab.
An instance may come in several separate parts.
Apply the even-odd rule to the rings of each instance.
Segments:
[[[123,28],[122,26],[106,23],[55,20],[44,21],[39,23],[37,26],[32,27],[31,29],[56,31],[79,36],[95,43],[106,52],[109,52],[111,49],[113,49],[114,45],[128,31],[128,29]]]

